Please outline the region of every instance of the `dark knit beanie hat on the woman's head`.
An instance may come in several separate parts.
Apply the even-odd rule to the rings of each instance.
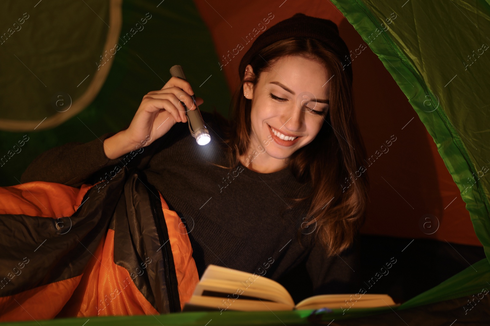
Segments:
[[[272,43],[291,37],[311,38],[324,43],[330,50],[337,54],[344,66],[347,77],[352,81],[352,67],[347,60],[349,58],[349,50],[340,37],[339,28],[335,22],[306,16],[301,13],[297,13],[291,18],[278,22],[255,39],[252,46],[240,61],[238,71],[240,79],[244,78],[246,65],[250,63],[252,58],[260,50]]]

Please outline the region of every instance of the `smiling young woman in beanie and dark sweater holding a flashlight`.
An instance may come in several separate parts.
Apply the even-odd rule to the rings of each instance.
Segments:
[[[187,127],[191,85],[172,77],[144,96],[127,129],[41,154],[22,182],[77,187],[147,158],[139,167],[185,222],[199,277],[217,264],[286,282],[304,263],[309,294],[356,291],[368,178],[348,55],[333,22],[296,14],[245,53],[233,119],[202,112],[208,145]]]

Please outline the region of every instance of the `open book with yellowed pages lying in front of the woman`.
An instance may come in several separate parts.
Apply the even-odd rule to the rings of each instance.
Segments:
[[[395,306],[387,294],[325,294],[294,304],[281,284],[264,276],[209,265],[182,311],[350,309]]]

